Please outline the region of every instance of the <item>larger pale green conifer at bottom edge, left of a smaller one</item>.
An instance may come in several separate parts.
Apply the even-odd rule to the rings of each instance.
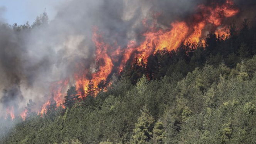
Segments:
[[[141,116],[135,124],[135,129],[133,129],[131,144],[149,144],[152,139],[153,123],[153,117],[144,106],[141,111]]]

